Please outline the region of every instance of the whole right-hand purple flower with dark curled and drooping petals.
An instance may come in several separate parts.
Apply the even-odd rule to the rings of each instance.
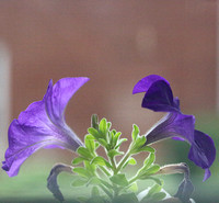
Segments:
[[[147,143],[172,137],[186,140],[191,145],[188,158],[198,167],[205,169],[204,181],[210,177],[210,166],[216,158],[214,140],[207,134],[195,129],[195,117],[185,115],[180,110],[180,101],[173,97],[170,83],[161,76],[150,75],[142,78],[132,93],[146,92],[142,108],[155,112],[168,112],[147,134]]]

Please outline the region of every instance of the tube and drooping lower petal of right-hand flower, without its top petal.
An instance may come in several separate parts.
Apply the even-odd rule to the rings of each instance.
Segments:
[[[191,145],[188,158],[206,169],[204,181],[210,177],[210,166],[216,158],[214,140],[207,134],[194,129],[195,117],[181,113],[169,113],[146,134],[146,145],[164,138],[186,140]]]

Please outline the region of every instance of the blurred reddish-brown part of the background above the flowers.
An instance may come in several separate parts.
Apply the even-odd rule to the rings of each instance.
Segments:
[[[214,112],[216,3],[0,1],[0,42],[11,58],[9,122],[43,98],[49,79],[77,76],[91,79],[66,112],[81,138],[93,113],[112,121],[125,136],[132,123],[146,132],[161,114],[141,109],[142,94],[131,95],[131,90],[150,74],[171,82],[185,113]]]

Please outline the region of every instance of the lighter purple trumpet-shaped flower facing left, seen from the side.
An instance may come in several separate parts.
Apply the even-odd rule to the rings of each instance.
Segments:
[[[76,150],[82,142],[65,122],[65,109],[76,91],[89,78],[62,78],[53,86],[50,80],[44,99],[28,105],[13,120],[8,132],[9,148],[2,169],[16,176],[21,165],[39,148]]]

